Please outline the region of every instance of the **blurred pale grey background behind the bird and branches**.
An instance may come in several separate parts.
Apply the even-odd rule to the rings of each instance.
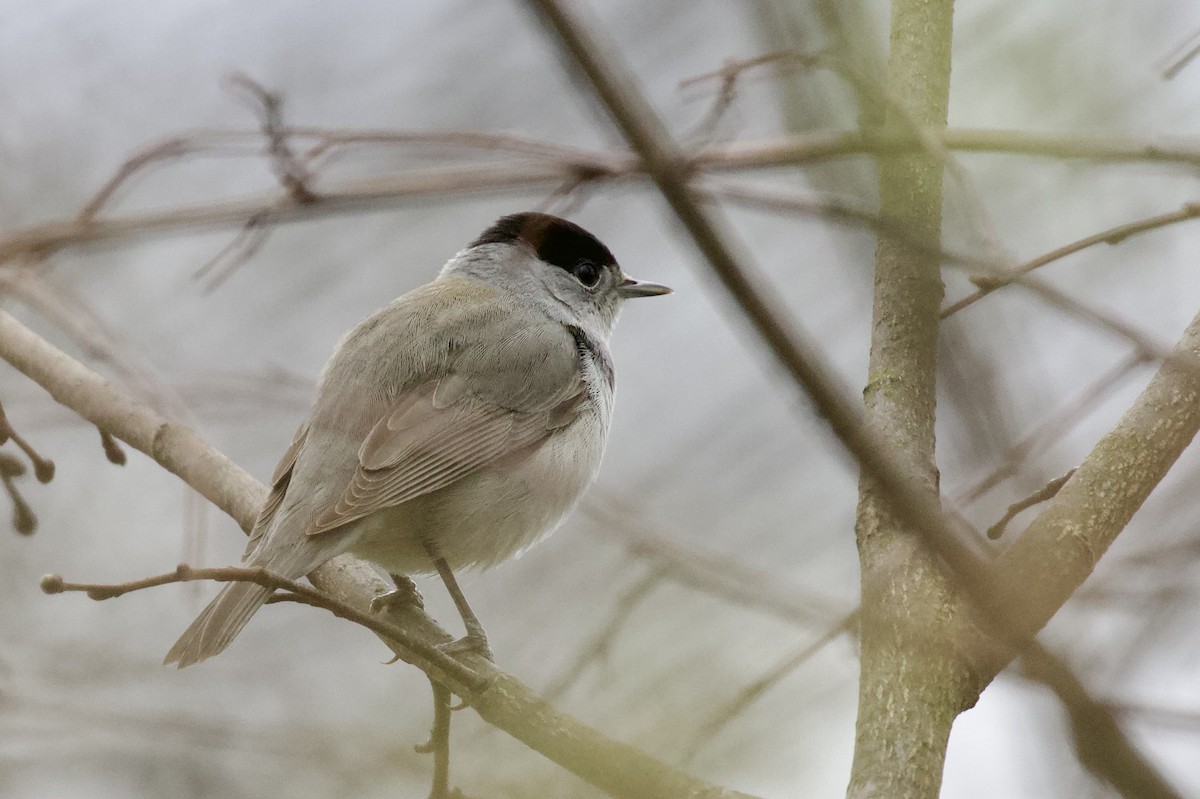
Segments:
[[[884,59],[882,2],[587,5],[689,145],[857,125],[853,91],[827,71],[748,72],[724,100],[720,80],[682,85],[727,60],[828,48],[869,74]],[[229,84],[235,72],[278,91],[289,125],[622,148],[518,2],[4,0],[0,12],[0,236],[74,217],[126,158],[164,138],[254,131],[256,108]],[[960,4],[955,23],[953,127],[1166,143],[1200,122],[1200,66],[1163,77],[1163,59],[1200,29],[1194,4]],[[103,212],[277,191],[270,163],[247,151],[148,170]],[[529,158],[448,143],[362,146],[323,166],[316,185]],[[959,163],[947,179],[946,246],[1014,262],[1196,199],[1195,169],[1180,164],[978,154]],[[743,178],[874,204],[874,169],[860,158]],[[0,301],[265,480],[344,330],[431,280],[496,217],[569,214],[628,272],[676,294],[635,304],[618,325],[612,440],[580,511],[524,557],[463,579],[497,661],[564,710],[715,782],[841,795],[856,641],[830,631],[858,597],[857,467],[652,188],[625,180],[552,193],[377,204],[272,227],[232,258],[218,257],[236,227],[65,250],[32,271],[0,266]],[[871,230],[733,204],[724,212],[796,320],[860,386]],[[1200,308],[1195,224],[1039,275],[1170,343]],[[948,301],[972,290],[954,270],[947,284]],[[952,317],[938,420],[948,501],[983,529],[1078,463],[1152,373],[1132,352],[1020,289]],[[382,665],[389,653],[366,631],[272,606],[228,653],[176,672],[162,655],[211,585],[103,603],[43,595],[46,572],[120,582],[180,560],[232,564],[245,542],[142,455],[110,465],[94,428],[2,364],[0,401],[58,464],[49,485],[19,483],[37,531],[0,530],[0,794],[424,795],[431,764],[413,745],[431,722],[427,684]],[[1014,459],[1021,441],[1032,445]],[[980,488],[1006,464],[1010,476]],[[1200,795],[1198,470],[1186,453],[1044,637],[1189,795]],[[431,613],[457,629],[442,587],[420,585]],[[469,711],[455,715],[452,769],[469,795],[596,795]],[[1057,701],[1010,671],[956,722],[943,795],[1108,789],[1075,761]]]

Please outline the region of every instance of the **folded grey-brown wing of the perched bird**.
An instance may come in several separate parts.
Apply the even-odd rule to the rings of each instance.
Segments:
[[[528,455],[588,396],[578,346],[559,324],[466,347],[448,372],[404,391],[367,433],[349,485],[307,528],[336,530],[444,488],[503,457]]]

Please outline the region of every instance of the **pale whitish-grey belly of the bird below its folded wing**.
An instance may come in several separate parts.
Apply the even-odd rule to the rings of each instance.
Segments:
[[[426,543],[454,570],[486,569],[558,527],[600,468],[607,431],[583,416],[538,450],[355,523],[349,551],[392,573],[433,571]]]

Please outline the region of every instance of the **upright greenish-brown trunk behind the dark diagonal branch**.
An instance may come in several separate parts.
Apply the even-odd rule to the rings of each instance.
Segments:
[[[946,126],[953,0],[896,0],[892,7],[889,107],[884,128],[908,120]],[[942,163],[913,152],[880,161],[880,212],[907,235],[881,233],[875,256],[868,423],[910,475],[937,497],[934,421],[942,280]],[[924,246],[914,247],[913,241]],[[950,725],[967,679],[947,636],[950,587],[919,531],[900,522],[886,492],[864,475],[856,524],[863,572],[862,674],[854,763],[847,795],[937,797]]]

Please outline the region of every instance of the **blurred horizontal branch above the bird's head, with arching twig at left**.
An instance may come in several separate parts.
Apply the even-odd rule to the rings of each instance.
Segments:
[[[260,214],[260,224],[296,222],[318,216],[383,210],[415,197],[512,191],[516,188],[557,187],[578,180],[628,178],[646,170],[646,164],[628,152],[592,152],[562,148],[517,137],[493,137],[481,133],[406,133],[346,132],[320,128],[287,128],[289,137],[310,138],[318,144],[305,156],[306,164],[331,149],[354,144],[443,144],[479,150],[512,151],[535,158],[532,163],[504,167],[449,167],[424,173],[408,173],[348,180],[323,185],[317,198],[296,203],[281,202],[276,194],[206,205],[139,214],[126,217],[96,218],[116,187],[151,163],[192,154],[220,154],[228,148],[235,155],[253,155],[248,149],[258,133],[209,131],[170,139],[134,155],[76,220],[53,222],[13,233],[0,239],[0,263],[35,254],[47,256],[64,247],[137,236],[162,235],[197,228],[241,227]],[[1028,133],[1020,131],[947,130],[938,134],[947,150],[966,152],[1007,152],[1054,158],[1087,158],[1100,162],[1162,161],[1200,164],[1200,146],[1164,145],[1136,139]],[[912,136],[888,136],[880,132],[822,132],[784,137],[774,140],[731,142],[680,154],[689,173],[757,169],[796,166],[859,155],[913,150],[922,146]]]

